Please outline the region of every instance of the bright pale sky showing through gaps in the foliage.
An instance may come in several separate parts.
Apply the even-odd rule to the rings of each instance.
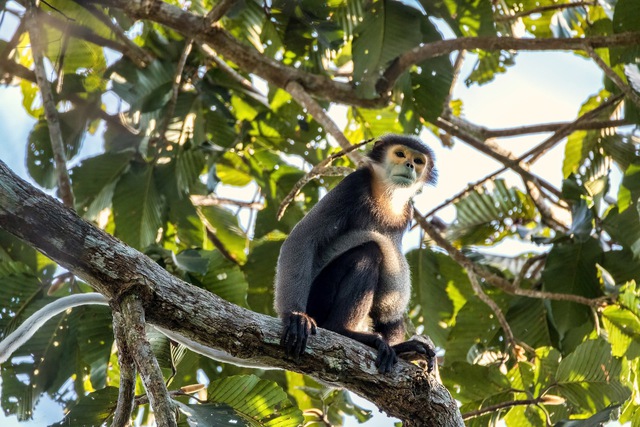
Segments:
[[[6,31],[6,33],[3,33]],[[6,25],[0,28],[0,38],[6,40],[12,29]],[[496,80],[484,86],[466,87],[464,80],[471,71],[474,60],[467,55],[465,66],[458,80],[453,98],[463,102],[463,116],[467,120],[488,128],[508,128],[526,124],[569,121],[576,117],[581,104],[602,87],[602,73],[592,62],[577,55],[566,53],[519,53],[516,65],[506,74],[498,75]],[[332,110],[338,123],[345,122],[345,111]],[[34,119],[29,117],[22,107],[19,88],[0,87],[0,159],[23,178],[28,178],[25,168],[26,139],[33,126]],[[90,137],[83,144],[81,157],[87,157],[101,150],[100,139]],[[516,154],[522,153],[540,143],[548,136],[538,134],[531,137],[501,140],[503,147]],[[421,212],[427,212],[442,201],[450,198],[474,182],[498,169],[501,164],[478,153],[462,142],[456,142],[453,149],[442,144],[429,133],[423,138],[436,153],[439,170],[438,184],[425,189],[416,197],[416,206]],[[550,154],[534,165],[532,171],[560,187],[562,176],[562,158],[564,144],[560,144]],[[520,184],[513,174],[505,175],[513,183]],[[235,190],[227,190],[233,192]],[[443,210],[440,215],[445,221],[454,218],[453,208]],[[494,251],[516,255],[531,247],[514,242],[499,245]],[[46,399],[43,399],[46,401]],[[357,403],[365,403],[356,398]],[[371,407],[369,405],[369,407]],[[383,427],[391,421],[372,408],[374,418],[364,424],[366,427]],[[15,418],[5,418],[0,412],[0,425],[43,426],[46,419],[54,416],[51,404],[43,403],[36,410],[34,421],[17,423]],[[348,426],[362,425],[348,420]]]

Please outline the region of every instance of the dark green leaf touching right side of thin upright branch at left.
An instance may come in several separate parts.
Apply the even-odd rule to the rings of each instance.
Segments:
[[[84,159],[71,171],[76,210],[93,219],[111,204],[113,190],[122,173],[129,166],[133,150],[104,153]]]

